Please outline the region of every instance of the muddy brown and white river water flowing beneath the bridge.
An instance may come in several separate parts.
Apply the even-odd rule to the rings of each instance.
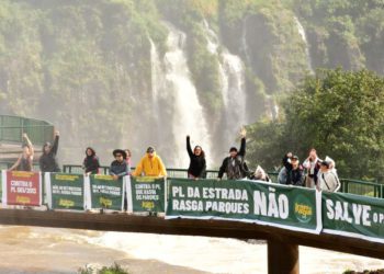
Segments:
[[[0,273],[76,273],[112,265],[129,273],[267,273],[262,241],[146,233],[0,227]],[[300,248],[301,273],[383,269],[384,261]]]

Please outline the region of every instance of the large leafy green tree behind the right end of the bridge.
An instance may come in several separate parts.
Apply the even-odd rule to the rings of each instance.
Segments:
[[[374,72],[318,70],[284,101],[284,117],[249,126],[249,158],[279,165],[289,150],[330,156],[341,176],[384,179],[384,78]]]

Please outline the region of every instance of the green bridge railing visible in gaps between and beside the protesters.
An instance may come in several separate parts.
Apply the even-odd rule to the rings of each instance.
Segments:
[[[132,168],[134,170],[135,168]],[[110,167],[101,167],[101,173],[108,174]],[[63,165],[63,172],[65,173],[82,173],[83,170],[81,165],[76,164],[65,164]],[[185,169],[167,169],[168,176],[170,178],[188,178],[188,172]],[[215,179],[217,178],[218,171],[207,170],[206,178]],[[278,172],[268,172],[272,182],[278,182]],[[360,180],[351,179],[340,179],[341,187],[340,192],[371,196],[377,198],[384,198],[384,184],[365,182]]]

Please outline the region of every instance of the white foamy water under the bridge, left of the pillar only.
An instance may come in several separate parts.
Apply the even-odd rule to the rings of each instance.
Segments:
[[[91,239],[90,243],[125,251],[137,259],[158,260],[213,273],[267,271],[266,244],[250,244],[235,239],[105,232],[100,238]]]

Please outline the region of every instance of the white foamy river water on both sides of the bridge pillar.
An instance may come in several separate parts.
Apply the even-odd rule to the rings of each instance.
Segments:
[[[236,239],[191,236],[105,232],[92,244],[116,249],[129,256],[158,260],[213,273],[267,273],[267,244]],[[301,272],[340,274],[350,270],[384,267],[384,261],[301,247]]]

